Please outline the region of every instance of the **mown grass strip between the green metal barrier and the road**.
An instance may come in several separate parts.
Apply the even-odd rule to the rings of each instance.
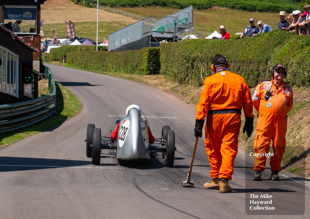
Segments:
[[[1,134],[0,147],[44,130],[51,129],[56,125],[60,125],[65,120],[75,116],[81,108],[78,98],[76,98],[71,91],[58,83],[56,83],[56,99],[57,112],[54,115],[50,116],[47,120],[28,128],[7,134]]]

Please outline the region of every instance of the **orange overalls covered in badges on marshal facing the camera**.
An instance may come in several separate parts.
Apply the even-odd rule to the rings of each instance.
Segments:
[[[271,96],[265,100],[268,90],[271,91]],[[264,80],[257,85],[252,101],[253,106],[259,112],[253,149],[256,153],[268,153],[272,140],[273,156],[270,157],[270,167],[271,171],[280,172],[280,164],[286,147],[286,114],[293,107],[293,90],[284,82],[277,87],[271,79]],[[255,157],[254,170],[263,172],[266,159],[266,156]]]

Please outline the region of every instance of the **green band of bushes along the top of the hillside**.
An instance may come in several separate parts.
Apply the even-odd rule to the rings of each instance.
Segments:
[[[71,0],[76,4],[94,7],[97,0]],[[183,9],[193,5],[195,9],[209,9],[214,6],[226,7],[237,10],[279,12],[302,10],[297,3],[290,0],[99,0],[99,5],[108,7],[171,7]]]

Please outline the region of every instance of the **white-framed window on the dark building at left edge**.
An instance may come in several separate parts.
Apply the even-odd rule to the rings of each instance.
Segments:
[[[18,97],[18,55],[0,46],[0,92]]]

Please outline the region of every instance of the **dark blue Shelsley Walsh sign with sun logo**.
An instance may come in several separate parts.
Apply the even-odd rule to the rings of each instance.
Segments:
[[[5,20],[37,20],[36,7],[5,7]]]

